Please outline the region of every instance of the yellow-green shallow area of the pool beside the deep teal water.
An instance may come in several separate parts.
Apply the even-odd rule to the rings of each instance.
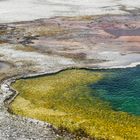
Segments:
[[[139,117],[113,111],[107,102],[94,96],[97,93],[88,86],[104,76],[102,72],[67,70],[18,80],[13,87],[20,94],[11,104],[11,110],[93,138],[139,139]]]

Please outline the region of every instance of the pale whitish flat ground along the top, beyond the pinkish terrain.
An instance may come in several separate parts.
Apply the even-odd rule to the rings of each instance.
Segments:
[[[140,13],[140,0],[0,0],[0,23],[54,16],[131,13]]]

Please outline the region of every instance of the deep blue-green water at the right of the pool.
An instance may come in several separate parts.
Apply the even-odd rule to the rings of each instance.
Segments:
[[[108,101],[116,111],[140,115],[140,66],[106,72],[109,76],[91,85],[96,96]]]

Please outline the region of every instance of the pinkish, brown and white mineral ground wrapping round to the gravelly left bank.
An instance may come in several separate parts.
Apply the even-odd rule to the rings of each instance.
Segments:
[[[139,43],[139,15],[55,17],[0,24],[0,139],[59,137],[49,124],[8,113],[11,100],[6,99],[13,97],[12,80],[72,67],[136,66],[140,63]]]

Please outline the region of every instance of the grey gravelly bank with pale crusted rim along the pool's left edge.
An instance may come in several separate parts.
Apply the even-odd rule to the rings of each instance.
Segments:
[[[58,72],[58,71],[56,71]],[[54,72],[52,72],[54,73]],[[1,83],[1,100],[0,100],[0,114],[3,117],[3,124],[9,129],[3,131],[0,129],[1,139],[40,139],[40,140],[56,140],[56,139],[74,139],[73,134],[64,130],[58,130],[51,124],[39,120],[25,118],[14,114],[9,114],[9,104],[16,98],[18,92],[10,86],[15,80],[21,78],[30,78],[34,76],[46,75],[49,73],[29,74],[8,78]],[[3,97],[3,98],[2,98]],[[10,122],[9,122],[10,120]],[[12,121],[12,124],[11,124]],[[3,129],[4,129],[3,126]],[[12,127],[11,127],[12,126]],[[13,126],[15,128],[13,128]],[[9,130],[9,131],[8,131]],[[38,133],[39,132],[39,133]]]

